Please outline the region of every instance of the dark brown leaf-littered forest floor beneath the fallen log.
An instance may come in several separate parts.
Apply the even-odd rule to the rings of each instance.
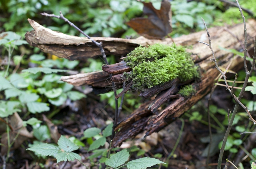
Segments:
[[[198,111],[204,117],[207,117],[208,102],[207,95],[198,104],[192,107],[188,114],[192,111]],[[229,94],[225,92],[224,87],[217,87],[213,93],[213,104],[217,107],[228,109],[232,108],[234,103],[232,102]],[[81,138],[83,131],[90,127],[103,128],[107,120],[113,120],[111,117],[114,116],[114,110],[111,107],[106,107],[104,102],[99,101],[99,96],[94,94],[89,94],[87,98],[75,102],[78,111],[74,112],[70,107],[63,108],[57,115],[55,115],[52,120],[61,120],[62,123],[57,125],[58,132],[61,135],[75,136]],[[120,119],[127,116],[121,113]],[[184,119],[185,125],[182,131],[182,135],[178,140],[178,146],[174,151],[174,155],[168,160],[168,169],[179,169],[179,168],[189,168],[189,169],[204,169],[206,168],[207,160],[207,145],[209,140],[209,129],[206,124],[203,124],[197,120],[190,121],[189,118],[183,115],[181,118]],[[217,117],[221,120],[223,116]],[[211,123],[214,124],[212,121]],[[140,149],[144,150],[144,154],[141,157],[153,157],[154,154],[161,154],[160,160],[165,161],[170,152],[173,150],[174,145],[179,137],[180,129],[182,126],[182,121],[180,119],[169,124],[166,128],[159,131],[158,133],[153,133],[150,136],[143,138],[144,134],[141,133],[135,137],[135,139],[129,139],[121,145],[121,148],[129,148],[134,145],[138,146]],[[212,128],[212,133],[214,139],[213,142],[217,144],[213,145],[212,154],[209,161],[210,168],[216,168],[218,161],[219,149],[217,147],[218,142],[223,139],[224,133],[219,133],[216,129]],[[84,144],[88,146],[86,140],[83,141]],[[24,147],[27,147],[29,142],[24,142]],[[11,162],[7,164],[7,168],[72,168],[72,169],[82,169],[85,168],[77,160],[72,162],[59,162],[56,164],[56,159],[50,157],[46,159],[33,158],[29,151],[26,151],[24,147],[20,147],[13,152],[11,152]],[[98,165],[94,165],[92,161],[88,160],[87,157],[91,153],[83,149],[76,151],[82,156],[82,162],[84,162],[89,168],[99,168]],[[131,154],[130,159],[140,158],[136,154]],[[227,158],[224,154],[224,159]],[[36,159],[36,161],[35,161]],[[97,163],[99,158],[93,159],[94,163]],[[104,168],[104,164],[103,168]],[[248,166],[249,167],[249,166]],[[155,167],[156,168],[156,167]],[[166,167],[161,167],[166,168]]]

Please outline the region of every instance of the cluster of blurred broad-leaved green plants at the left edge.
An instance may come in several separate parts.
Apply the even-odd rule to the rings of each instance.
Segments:
[[[68,61],[67,59],[44,60],[43,55],[33,54],[30,61],[43,67],[32,67],[22,70],[19,74],[8,75],[13,49],[25,42],[20,40],[21,37],[13,32],[2,33],[1,36],[3,38],[0,40],[0,44],[8,51],[8,64],[4,76],[9,80],[0,76],[0,80],[3,82],[0,84],[0,91],[4,91],[6,99],[0,101],[1,117],[12,115],[15,111],[21,112],[21,107],[25,106],[28,108],[28,112],[31,113],[49,111],[50,107],[49,104],[45,103],[46,101],[49,101],[52,105],[60,106],[67,98],[74,101],[85,97],[80,92],[71,91],[73,85],[60,81],[61,75],[56,74],[67,72],[68,70],[62,70],[64,67],[74,68],[78,64],[77,61]],[[22,62],[22,58],[19,60]],[[19,65],[19,63],[16,64]],[[61,69],[52,69],[51,67]],[[43,75],[43,73],[46,75]]]

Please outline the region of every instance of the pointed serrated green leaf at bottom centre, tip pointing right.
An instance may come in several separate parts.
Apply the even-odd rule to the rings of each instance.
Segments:
[[[126,166],[128,169],[144,169],[157,164],[166,164],[166,163],[155,158],[144,157],[144,158],[139,158],[137,160],[129,161]]]

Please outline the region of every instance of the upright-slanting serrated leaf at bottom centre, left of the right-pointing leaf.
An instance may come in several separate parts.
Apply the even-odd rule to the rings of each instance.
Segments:
[[[110,159],[108,159],[105,164],[117,168],[120,165],[124,164],[129,158],[129,152],[126,149],[123,149],[120,152],[117,152],[116,154],[113,154]]]

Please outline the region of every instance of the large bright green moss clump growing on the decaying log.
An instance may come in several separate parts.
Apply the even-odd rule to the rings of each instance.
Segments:
[[[132,73],[124,73],[124,78],[133,80],[133,88],[151,88],[175,78],[186,81],[199,76],[185,47],[175,44],[139,46],[124,61],[132,67]]]

